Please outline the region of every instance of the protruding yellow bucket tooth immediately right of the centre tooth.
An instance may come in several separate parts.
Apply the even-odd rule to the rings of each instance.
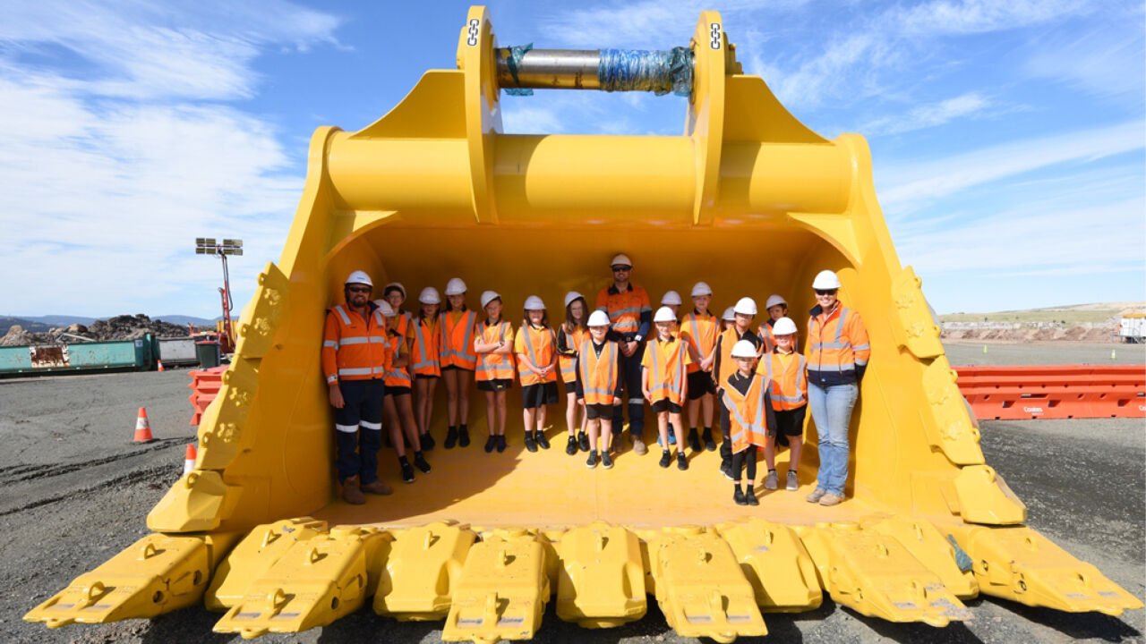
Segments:
[[[727,643],[768,634],[752,584],[720,536],[666,532],[649,552],[657,603],[677,635]]]

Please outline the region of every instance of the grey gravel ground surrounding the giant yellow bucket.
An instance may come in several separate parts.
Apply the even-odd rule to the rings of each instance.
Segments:
[[[1120,362],[1146,350],[1117,346]],[[952,364],[1108,362],[1110,345],[949,345]],[[1105,352],[1105,353],[1104,353]],[[181,473],[188,425],[187,371],[0,380],[0,642],[241,642],[217,635],[203,608],[158,619],[49,631],[21,616],[146,534],[144,517]],[[156,441],[131,442],[139,406]],[[1029,525],[1146,597],[1146,432],[1141,421],[982,424],[988,462],[1029,508]],[[772,642],[1143,642],[1146,611],[1121,618],[1066,614],[991,598],[974,619],[945,629],[864,618],[830,599],[814,612],[767,614]],[[440,622],[399,623],[364,610],[335,625],[266,642],[440,642]],[[677,637],[650,602],[649,615],[590,631],[557,619],[552,603],[537,642],[693,642]]]

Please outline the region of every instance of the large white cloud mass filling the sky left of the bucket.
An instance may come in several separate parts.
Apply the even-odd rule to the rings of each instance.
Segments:
[[[260,52],[333,44],[338,21],[283,2],[40,2],[5,17],[2,313],[218,315],[219,261],[191,253],[196,236],[245,241],[240,308],[303,178],[273,126],[218,101],[257,91]]]

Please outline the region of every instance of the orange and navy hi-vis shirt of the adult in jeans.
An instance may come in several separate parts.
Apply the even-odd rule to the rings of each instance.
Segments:
[[[808,317],[808,379],[819,386],[856,380],[856,367],[868,364],[871,345],[859,315],[838,304],[824,315]]]

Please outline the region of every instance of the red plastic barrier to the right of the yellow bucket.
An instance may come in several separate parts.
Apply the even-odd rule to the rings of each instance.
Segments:
[[[980,419],[1146,418],[1144,366],[956,367]]]

